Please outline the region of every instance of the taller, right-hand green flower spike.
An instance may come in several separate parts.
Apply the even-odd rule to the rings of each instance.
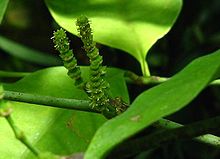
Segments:
[[[92,108],[105,112],[112,111],[115,113],[115,109],[109,110],[109,83],[104,79],[106,74],[106,67],[102,66],[103,58],[99,55],[99,50],[96,47],[96,43],[93,41],[92,30],[90,22],[87,17],[81,16],[77,19],[76,25],[78,26],[78,32],[84,44],[84,50],[90,60],[90,78],[86,83],[86,90],[89,94]]]

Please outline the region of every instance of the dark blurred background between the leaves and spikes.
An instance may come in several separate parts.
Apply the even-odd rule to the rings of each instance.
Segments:
[[[13,0],[8,5],[4,21],[0,26],[0,34],[36,50],[57,56],[50,39],[57,28],[43,1]],[[82,43],[77,37],[69,36],[73,49],[78,52],[77,58],[80,59],[80,64],[87,65],[87,58],[81,54]],[[130,55],[100,44],[98,47],[107,66],[120,67],[141,74],[138,62]],[[193,59],[219,48],[220,0],[184,0],[175,25],[151,48],[147,60],[153,75],[170,77]],[[0,70],[32,72],[47,67],[11,56],[1,48],[0,60]],[[132,100],[149,88],[135,85],[128,87]],[[220,114],[219,86],[206,88],[188,107],[168,118],[187,124],[218,114]],[[155,159],[219,159],[220,152],[188,141],[162,146],[150,156]]]

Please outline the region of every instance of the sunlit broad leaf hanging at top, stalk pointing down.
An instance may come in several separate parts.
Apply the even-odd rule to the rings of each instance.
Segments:
[[[77,35],[76,18],[91,19],[95,41],[124,50],[149,75],[146,55],[151,46],[172,27],[181,0],[46,0],[56,22]]]

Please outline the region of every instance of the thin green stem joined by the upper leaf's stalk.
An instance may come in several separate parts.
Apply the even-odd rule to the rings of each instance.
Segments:
[[[159,76],[149,76],[149,77],[138,76],[131,71],[125,71],[124,76],[128,83],[137,84],[137,85],[160,84],[170,79],[167,77],[159,77]],[[220,79],[214,80],[209,85],[220,85]]]

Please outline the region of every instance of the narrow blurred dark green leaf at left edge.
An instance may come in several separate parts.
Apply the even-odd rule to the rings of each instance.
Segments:
[[[54,56],[33,50],[27,46],[11,41],[3,36],[0,36],[0,49],[22,60],[41,65],[51,66],[61,63],[60,60]]]

